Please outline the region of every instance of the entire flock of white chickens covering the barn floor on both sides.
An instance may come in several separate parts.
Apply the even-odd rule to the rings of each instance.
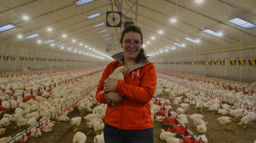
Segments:
[[[85,73],[92,73],[99,70],[102,70],[102,67],[79,70],[77,72],[64,72],[60,74],[56,73],[52,76],[45,76],[43,79],[35,79],[28,82],[12,82],[2,84],[0,87],[0,98],[3,100],[7,97],[11,97],[11,99],[2,102],[3,108],[7,108],[7,111],[1,113],[4,115],[0,120],[0,135],[2,136],[8,131],[8,126],[10,124],[15,124],[17,131],[21,132],[25,127],[34,125],[38,122],[39,119],[55,112],[62,106],[65,106],[66,103],[70,103],[76,100],[77,97],[80,97],[82,93],[88,91],[91,87],[98,83],[102,72],[84,78],[77,78],[73,81],[70,80],[67,83],[64,83],[63,81],[67,81],[67,79],[71,79],[73,77],[79,77]],[[186,115],[188,108],[195,108],[197,112],[201,113],[210,111],[213,112],[213,114],[218,113],[224,115],[220,118],[217,118],[216,120],[220,122],[222,129],[227,130],[230,130],[228,125],[231,123],[231,121],[240,120],[238,125],[244,125],[244,128],[247,127],[248,123],[256,121],[255,109],[253,109],[254,112],[251,112],[250,110],[240,108],[236,105],[226,104],[218,98],[210,97],[203,92],[198,93],[197,90],[193,90],[181,86],[176,82],[167,80],[170,77],[166,77],[163,74],[158,74],[158,76],[164,78],[158,77],[157,88],[154,95],[160,97],[162,93],[168,93],[169,99],[160,98],[160,103],[165,104],[168,108],[171,108],[173,110],[172,113],[175,116],[177,115],[184,125],[188,124],[188,120],[193,121],[194,126],[197,127],[197,134],[199,134],[198,138],[201,137],[204,143],[207,143],[207,137],[205,136],[205,133],[207,132],[207,126],[209,125],[209,122],[205,122],[203,120],[204,116],[201,114]],[[184,82],[194,87],[200,87],[200,89],[212,91],[215,94],[221,94],[231,99],[236,99],[237,101],[244,103],[247,102],[248,105],[255,106],[256,104],[256,94],[248,95],[244,94],[243,92],[236,92],[235,90],[230,91],[224,89],[221,86],[217,86],[215,84],[205,84],[201,81],[190,81],[176,77],[171,78],[174,81]],[[7,79],[2,78],[2,82],[3,81],[7,81]],[[14,99],[15,95],[19,95],[22,92],[27,92],[31,89],[34,90],[38,89],[38,87],[43,87],[44,85],[49,86],[50,84],[59,82],[60,84],[57,84],[57,86],[52,88],[51,91],[49,91],[48,87],[46,90],[42,90],[41,96],[37,96],[37,94],[34,92],[33,95],[35,96],[35,99],[31,98],[27,102],[23,102],[23,98],[21,96],[18,96],[17,99]],[[93,142],[104,143],[103,120],[105,117],[107,105],[99,104],[95,99],[95,95],[96,89],[92,90],[87,96],[77,102],[73,107],[67,108],[67,111],[63,112],[63,114],[59,116],[53,116],[52,122],[50,122],[50,120],[48,120],[48,122],[44,120],[42,122],[43,128],[33,128],[31,131],[31,136],[38,137],[42,135],[41,132],[51,132],[55,123],[70,122],[70,125],[74,126],[74,132],[76,132],[73,137],[73,143],[85,143],[87,139],[86,135],[93,131],[96,134]],[[25,97],[27,96],[30,96],[30,93],[26,93]],[[152,98],[149,104],[151,106],[151,116],[153,120],[162,122],[165,117],[157,115],[162,107],[155,105],[155,98]],[[69,113],[76,109],[80,111],[80,116],[77,115],[76,117],[70,119]],[[85,112],[88,112],[89,114],[84,116]],[[167,116],[167,114],[168,112],[166,111],[165,116]],[[81,126],[81,120],[86,120],[85,126],[86,128],[90,129],[88,133],[77,132],[79,126]],[[176,136],[176,133],[171,133],[161,129],[160,140],[165,140],[168,143],[183,142],[179,138],[176,138]],[[11,136],[1,138],[0,143],[3,143],[10,138]],[[22,140],[23,138],[19,138],[16,140],[16,142],[20,142]],[[27,140],[27,135],[25,135],[24,140]]]

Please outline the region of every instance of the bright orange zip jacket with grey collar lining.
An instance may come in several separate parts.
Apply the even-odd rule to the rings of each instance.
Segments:
[[[115,60],[105,68],[96,92],[96,100],[108,104],[103,90],[104,81],[117,68],[122,66],[123,52],[112,56]],[[115,106],[108,104],[105,123],[119,129],[146,129],[153,126],[151,110],[148,102],[152,99],[157,84],[157,74],[153,63],[136,64],[126,75],[124,81],[119,80],[116,93],[124,96]]]

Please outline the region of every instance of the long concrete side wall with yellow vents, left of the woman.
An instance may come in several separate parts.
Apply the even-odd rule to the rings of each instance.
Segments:
[[[23,71],[24,66],[30,66],[30,70],[40,70],[40,69],[50,69],[50,66],[54,66],[54,68],[65,68],[65,67],[87,67],[87,66],[104,66],[107,65],[108,62],[98,58],[92,58],[85,55],[67,55],[67,54],[59,54],[52,53],[41,50],[20,48],[20,47],[11,47],[11,46],[3,46],[0,45],[0,72],[19,72]],[[3,60],[4,55],[8,55],[8,61]],[[15,60],[11,60],[11,56],[16,56]],[[25,57],[23,61],[20,61],[20,56],[28,56],[34,57],[33,61],[25,61]],[[36,57],[47,58],[46,61],[36,61]],[[64,59],[64,61],[49,61],[48,59]],[[65,60],[75,60],[74,62],[65,62]],[[83,62],[76,62],[83,61]]]

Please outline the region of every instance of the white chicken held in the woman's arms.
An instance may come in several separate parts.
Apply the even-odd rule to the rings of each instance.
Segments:
[[[123,72],[126,71],[127,69],[123,66],[120,66],[118,68],[116,68],[114,70],[114,72],[109,75],[109,77],[106,79],[106,80],[123,80],[124,81],[124,75],[123,75]],[[100,93],[104,93],[105,91],[102,90]],[[111,105],[112,106],[115,106],[116,102],[111,102]]]

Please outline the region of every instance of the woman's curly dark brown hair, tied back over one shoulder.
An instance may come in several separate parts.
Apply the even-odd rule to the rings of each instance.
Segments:
[[[123,38],[124,38],[124,35],[128,32],[136,32],[138,34],[141,35],[141,42],[143,42],[143,35],[142,35],[142,31],[140,29],[140,27],[136,26],[136,25],[129,25],[127,26],[123,32],[120,34],[120,39],[119,39],[119,43],[123,43]],[[135,62],[136,63],[147,63],[148,61],[148,56],[146,55],[145,51],[144,51],[144,48],[142,47],[141,50],[140,50],[140,53],[138,54],[138,56],[136,57],[135,59]]]

